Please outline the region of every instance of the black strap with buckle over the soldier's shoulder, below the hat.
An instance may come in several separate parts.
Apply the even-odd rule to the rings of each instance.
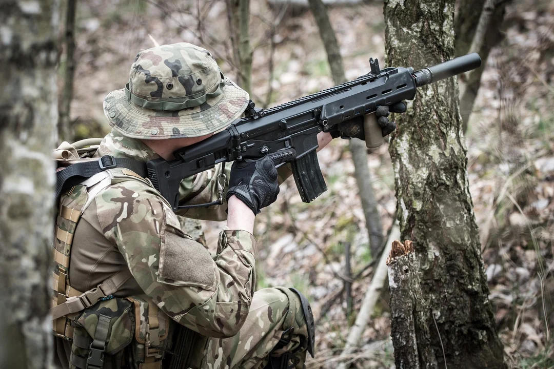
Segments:
[[[126,168],[134,171],[142,178],[148,178],[146,174],[146,163],[128,158],[114,158],[111,155],[104,155],[98,160],[91,162],[75,163],[56,173],[56,201],[60,194],[70,187],[81,183],[87,178],[111,168]]]

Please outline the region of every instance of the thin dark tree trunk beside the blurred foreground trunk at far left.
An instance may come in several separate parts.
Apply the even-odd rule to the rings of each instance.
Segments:
[[[73,100],[73,77],[75,75],[75,13],[77,0],[68,0],[65,12],[65,73],[64,90],[61,95],[58,129],[60,141],[71,142],[71,100]]]

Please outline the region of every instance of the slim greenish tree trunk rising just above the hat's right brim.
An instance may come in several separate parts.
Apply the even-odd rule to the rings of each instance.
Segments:
[[[227,0],[227,18],[235,63],[237,83],[252,93],[252,48],[250,47],[250,0]]]

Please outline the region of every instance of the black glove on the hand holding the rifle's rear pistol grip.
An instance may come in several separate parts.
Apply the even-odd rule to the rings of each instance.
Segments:
[[[227,200],[237,196],[254,214],[272,204],[279,194],[277,169],[268,157],[259,160],[236,160],[231,168]]]

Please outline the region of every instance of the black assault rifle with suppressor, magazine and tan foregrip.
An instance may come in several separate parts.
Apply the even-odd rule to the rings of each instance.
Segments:
[[[179,183],[184,178],[218,163],[269,155],[276,167],[292,164],[302,201],[311,202],[327,190],[317,162],[317,133],[337,129],[338,124],[338,129],[348,131],[347,136],[365,138],[366,146],[375,149],[383,143],[377,107],[413,100],[417,87],[476,69],[481,58],[473,53],[418,71],[412,67],[381,70],[373,59],[370,65],[370,73],[353,81],[283,105],[257,110],[250,101],[244,118],[204,141],[176,150],[175,160],[150,160],[148,178],[177,210]]]

